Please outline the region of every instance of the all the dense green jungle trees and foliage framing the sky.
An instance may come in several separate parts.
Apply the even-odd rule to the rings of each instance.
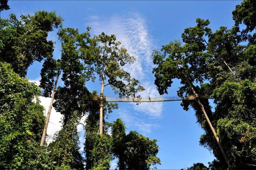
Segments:
[[[1,12],[11,8],[7,2],[1,0]],[[156,89],[160,95],[168,93],[173,79],[180,79],[177,94],[195,97],[181,107],[195,111],[204,130],[199,144],[216,157],[208,167],[195,162],[190,170],[256,168],[256,1],[244,0],[232,14],[235,25],[230,29],[212,31],[209,20],[197,18],[182,40],[152,51]],[[144,90],[122,69],[135,58],[114,35],[92,37],[90,27],[81,33],[64,28],[62,21],[56,12],[46,11],[20,20],[14,14],[0,18],[0,169],[109,169],[114,158],[118,169],[155,168],[160,164],[157,140],[127,133],[121,119],[107,120],[118,105],[104,102],[104,87],[120,97]],[[54,29],[61,42],[58,60],[54,42],[47,40]],[[39,87],[24,78],[34,61],[43,62]],[[62,87],[57,87],[59,77]],[[96,77],[101,82],[99,103],[85,100],[97,95],[85,86]],[[47,117],[39,96],[52,98]],[[214,99],[214,111],[202,96]],[[52,107],[64,117],[62,129],[46,144]],[[77,125],[84,115],[80,152]]]

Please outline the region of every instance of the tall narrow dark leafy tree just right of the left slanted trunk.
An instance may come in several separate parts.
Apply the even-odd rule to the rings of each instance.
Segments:
[[[63,117],[62,130],[56,134],[56,140],[49,144],[53,159],[58,166],[75,169],[82,168],[83,159],[78,146],[78,132],[76,126],[88,109],[87,101],[90,93],[85,87],[87,75],[84,73],[84,63],[79,55],[77,37],[87,35],[79,34],[78,30],[67,28],[58,33],[62,41],[62,81],[63,87],[58,87],[53,107]],[[69,140],[67,140],[69,138]]]

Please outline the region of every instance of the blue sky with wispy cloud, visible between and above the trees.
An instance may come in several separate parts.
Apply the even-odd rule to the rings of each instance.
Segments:
[[[210,28],[220,26],[231,28],[234,25],[232,10],[241,1],[9,1],[10,10],[1,12],[2,18],[10,13],[34,14],[38,10],[55,10],[64,18],[63,27],[78,28],[86,31],[86,26],[92,27],[91,34],[101,32],[115,34],[136,62],[125,69],[132,76],[140,80],[146,91],[143,97],[159,96],[154,85],[152,74],[153,49],[160,49],[175,39],[181,39],[185,28],[195,26],[196,18],[209,19]],[[60,43],[56,30],[48,36],[49,40],[56,41],[54,57],[60,57]],[[28,69],[27,77],[39,81],[42,63],[35,62]],[[63,85],[59,81],[58,85]],[[100,90],[98,81],[87,82],[86,87]],[[175,80],[169,88],[168,95],[176,95],[180,81]],[[107,96],[114,95],[108,87]],[[42,99],[45,106],[50,103]],[[212,105],[214,107],[214,105]],[[54,112],[54,111],[53,111]],[[58,113],[54,112],[56,115]],[[54,117],[54,114],[51,115]],[[119,103],[119,109],[111,113],[109,121],[121,118],[127,132],[137,130],[150,138],[158,140],[161,165],[158,169],[180,169],[202,162],[208,165],[214,156],[206,148],[199,145],[202,129],[196,123],[194,111],[184,111],[179,101],[165,103]],[[56,120],[60,119],[60,115]],[[51,121],[51,120],[50,120]],[[52,119],[52,122],[54,120]],[[60,126],[57,122],[56,127]],[[51,128],[53,130],[53,128]],[[54,128],[58,130],[59,128]],[[82,133],[81,133],[82,139]],[[115,167],[115,160],[112,161]]]

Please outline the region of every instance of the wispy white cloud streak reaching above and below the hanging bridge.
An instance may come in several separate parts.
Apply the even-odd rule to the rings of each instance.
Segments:
[[[153,63],[151,53],[154,49],[154,41],[148,31],[146,20],[138,13],[128,13],[124,16],[113,16],[110,19],[96,20],[88,23],[92,32],[96,35],[101,32],[114,34],[118,41],[124,45],[130,55],[136,58],[132,65],[126,65],[124,69],[135,77],[145,87],[146,91],[140,93],[142,97],[159,96],[152,79]],[[134,109],[152,117],[159,117],[162,113],[162,103],[142,103],[134,105]]]

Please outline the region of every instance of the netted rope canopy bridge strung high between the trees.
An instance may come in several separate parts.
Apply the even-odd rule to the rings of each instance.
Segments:
[[[200,96],[201,99],[211,99],[206,96]],[[92,100],[92,101],[98,101],[99,96],[94,96],[92,99],[84,99],[84,100]],[[106,102],[134,102],[134,103],[141,103],[141,102],[164,102],[164,101],[182,101],[182,100],[194,100],[194,97],[192,95],[190,96],[167,96],[167,97],[140,97],[140,98],[132,98],[132,97],[110,97],[106,96],[105,101]]]

